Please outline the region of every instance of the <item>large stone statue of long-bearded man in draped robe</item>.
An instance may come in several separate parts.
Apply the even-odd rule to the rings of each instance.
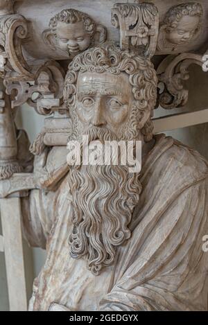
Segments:
[[[22,198],[28,242],[47,252],[30,310],[207,310],[207,161],[153,136],[156,98],[150,60],[113,44],[69,65],[69,140],[139,140],[142,168],[69,166],[56,191]],[[46,166],[58,169],[66,155],[53,147]]]

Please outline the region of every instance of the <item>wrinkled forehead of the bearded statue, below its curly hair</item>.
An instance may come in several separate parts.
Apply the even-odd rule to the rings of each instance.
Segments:
[[[77,81],[78,91],[87,91],[94,89],[97,91],[110,89],[115,94],[130,96],[132,88],[129,82],[129,76],[125,72],[119,73],[118,76],[110,72],[104,73],[79,73]]]

